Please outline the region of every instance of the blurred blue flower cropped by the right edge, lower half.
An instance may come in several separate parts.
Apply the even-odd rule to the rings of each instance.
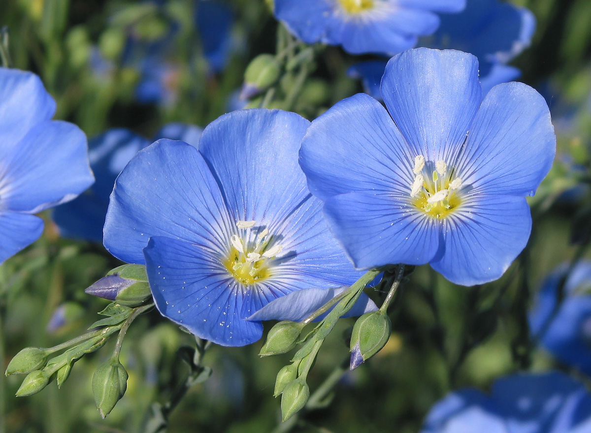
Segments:
[[[591,375],[591,263],[567,271],[561,266],[544,281],[530,313],[531,333],[560,362]]]

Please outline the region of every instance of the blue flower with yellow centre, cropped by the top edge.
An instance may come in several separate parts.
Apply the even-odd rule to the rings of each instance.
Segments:
[[[397,54],[439,26],[433,12],[459,12],[466,0],[275,0],[275,16],[306,43],[352,54]]]

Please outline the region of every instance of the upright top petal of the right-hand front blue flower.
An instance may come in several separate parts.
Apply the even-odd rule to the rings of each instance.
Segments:
[[[460,51],[408,50],[388,62],[381,89],[392,119],[414,151],[411,157],[450,161],[481,101],[478,61]]]

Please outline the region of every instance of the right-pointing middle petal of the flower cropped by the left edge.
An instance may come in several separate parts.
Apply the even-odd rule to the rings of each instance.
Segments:
[[[37,123],[0,158],[5,209],[36,213],[72,200],[94,181],[87,152],[86,135],[72,123]]]

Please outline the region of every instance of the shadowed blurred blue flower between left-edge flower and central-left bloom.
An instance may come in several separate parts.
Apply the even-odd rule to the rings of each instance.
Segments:
[[[197,146],[201,128],[184,123],[168,123],[155,135],[154,140],[169,138]],[[90,167],[96,182],[76,200],[62,204],[53,211],[53,220],[61,236],[101,242],[103,225],[109,206],[109,195],[115,179],[129,160],[151,141],[129,129],[114,128],[89,142]]]

